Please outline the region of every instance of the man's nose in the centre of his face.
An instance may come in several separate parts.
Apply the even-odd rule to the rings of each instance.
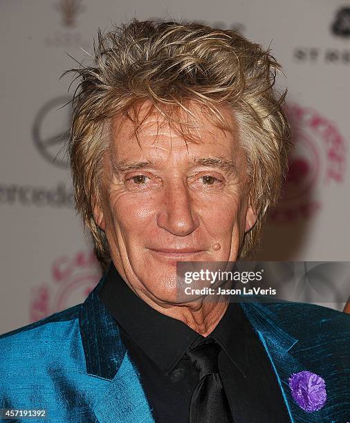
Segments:
[[[185,236],[199,226],[187,183],[181,178],[169,178],[165,183],[163,201],[157,223],[159,227],[178,236]]]

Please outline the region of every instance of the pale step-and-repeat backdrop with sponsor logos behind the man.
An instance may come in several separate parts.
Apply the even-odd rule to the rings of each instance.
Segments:
[[[98,283],[64,154],[71,79],[59,77],[98,28],[133,17],[202,21],[270,46],[295,149],[255,260],[350,260],[349,1],[3,0],[0,332],[81,303]]]

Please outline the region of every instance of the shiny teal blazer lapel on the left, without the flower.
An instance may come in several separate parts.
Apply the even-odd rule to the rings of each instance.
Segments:
[[[79,317],[86,373],[110,382],[96,391],[93,412],[101,423],[154,422],[118,324],[98,298],[103,283],[104,277],[84,301]]]

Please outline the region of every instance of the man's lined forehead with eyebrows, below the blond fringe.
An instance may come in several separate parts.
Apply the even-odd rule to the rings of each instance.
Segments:
[[[190,112],[193,110],[201,113],[201,109],[192,109]],[[228,118],[232,116],[228,111],[224,113]],[[195,115],[190,116],[194,118]],[[138,120],[139,126],[125,115],[114,121],[113,146],[109,150],[114,173],[145,167],[180,169],[196,165],[219,167],[228,172],[233,169],[237,173],[241,171],[245,161],[244,153],[239,147],[237,126],[233,118],[228,122],[232,131],[223,131],[205,118],[203,113],[199,114],[199,119],[193,120],[191,126],[197,140],[200,138],[199,142],[194,143],[187,143],[186,136],[176,133],[176,124],[169,123],[158,110],[149,113],[147,107],[142,108]]]

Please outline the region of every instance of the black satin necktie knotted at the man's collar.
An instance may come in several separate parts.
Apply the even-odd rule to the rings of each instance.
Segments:
[[[190,423],[233,422],[217,366],[220,349],[219,344],[210,342],[187,350],[188,357],[199,370],[199,384],[191,397]]]

